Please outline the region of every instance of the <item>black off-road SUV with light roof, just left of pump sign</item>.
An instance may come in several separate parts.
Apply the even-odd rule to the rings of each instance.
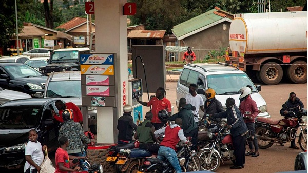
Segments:
[[[57,49],[52,52],[48,65],[42,69],[45,75],[51,72],[59,71],[80,71],[80,53],[89,53],[90,49],[85,48],[68,48]]]

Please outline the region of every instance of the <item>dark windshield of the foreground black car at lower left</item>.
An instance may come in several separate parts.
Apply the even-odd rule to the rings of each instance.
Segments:
[[[0,109],[0,129],[26,129],[37,126],[41,120],[40,109],[31,107]]]

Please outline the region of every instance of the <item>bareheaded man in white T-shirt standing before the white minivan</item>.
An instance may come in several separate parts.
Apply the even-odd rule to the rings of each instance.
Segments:
[[[195,122],[199,124],[199,109],[201,109],[202,112],[204,112],[204,102],[201,97],[201,95],[197,94],[196,92],[197,85],[196,84],[190,84],[189,85],[189,94],[185,95],[187,104],[190,103],[192,106],[196,107],[196,111],[193,111],[194,114],[197,113],[197,117],[195,116]]]

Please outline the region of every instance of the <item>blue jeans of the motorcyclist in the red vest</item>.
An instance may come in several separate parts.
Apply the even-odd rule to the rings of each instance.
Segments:
[[[162,161],[168,159],[169,163],[172,165],[172,167],[176,170],[177,173],[182,172],[179,160],[177,158],[177,153],[174,149],[166,146],[160,146],[157,158],[159,158]]]

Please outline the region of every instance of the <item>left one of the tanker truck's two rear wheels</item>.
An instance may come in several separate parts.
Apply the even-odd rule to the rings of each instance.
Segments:
[[[283,70],[280,65],[275,62],[268,62],[261,67],[259,76],[260,80],[266,85],[278,84],[283,75]]]

